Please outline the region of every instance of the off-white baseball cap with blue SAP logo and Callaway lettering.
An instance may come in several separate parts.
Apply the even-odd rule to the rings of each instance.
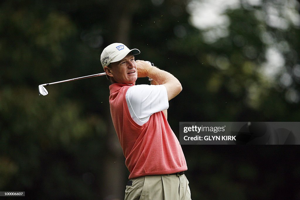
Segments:
[[[137,55],[140,53],[139,49],[129,49],[122,43],[112,43],[105,47],[103,52],[101,53],[101,64],[104,68],[108,66],[111,62],[118,62],[125,58],[125,56],[132,52],[132,55]]]

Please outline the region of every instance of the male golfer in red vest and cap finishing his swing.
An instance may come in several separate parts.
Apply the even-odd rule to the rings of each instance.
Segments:
[[[130,172],[125,199],[191,199],[184,154],[167,121],[169,100],[182,86],[172,74],[147,61],[135,61],[139,53],[113,43],[101,54],[112,83],[110,113]],[[153,80],[151,85],[135,85],[138,77]]]

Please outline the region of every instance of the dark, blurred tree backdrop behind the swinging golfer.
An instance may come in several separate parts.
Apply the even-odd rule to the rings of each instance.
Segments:
[[[110,82],[38,96],[40,84],[103,72],[100,54],[113,42],[180,80],[168,109],[177,136],[180,121],[299,121],[299,27],[295,0],[1,1],[0,191],[124,198]],[[192,199],[300,198],[298,145],[182,149]]]

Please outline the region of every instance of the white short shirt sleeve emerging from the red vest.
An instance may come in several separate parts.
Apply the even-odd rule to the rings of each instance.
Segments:
[[[140,126],[155,112],[169,108],[164,85],[134,85],[126,92],[126,102],[131,118]]]

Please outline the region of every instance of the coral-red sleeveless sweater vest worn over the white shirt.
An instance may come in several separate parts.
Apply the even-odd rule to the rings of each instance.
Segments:
[[[110,113],[129,179],[187,170],[182,148],[162,111],[152,114],[141,126],[131,118],[125,97],[130,87],[135,85],[114,83],[109,87]]]

